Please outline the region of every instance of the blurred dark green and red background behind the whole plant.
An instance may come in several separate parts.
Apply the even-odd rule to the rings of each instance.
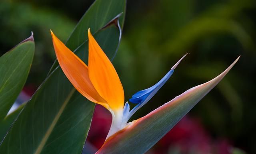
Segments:
[[[54,62],[49,30],[65,42],[92,2],[1,0],[0,55],[34,32],[36,52],[23,95],[34,93]],[[228,75],[148,154],[229,154],[232,147],[236,147],[234,154],[256,153],[255,26],[255,0],[128,0],[122,41],[113,61],[126,100],[154,85],[190,52],[132,119],[209,81],[242,55]],[[111,116],[97,106],[93,119],[94,130],[86,143],[92,151],[104,142]]]

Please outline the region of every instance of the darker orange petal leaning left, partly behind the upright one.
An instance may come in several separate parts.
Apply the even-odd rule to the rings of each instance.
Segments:
[[[66,45],[64,45],[52,31],[51,34],[54,50],[60,67],[72,85],[84,97],[94,103],[101,104],[108,109],[108,104],[106,104],[106,101],[98,94],[89,79],[87,65],[70,51],[70,49],[68,49],[68,47],[66,47]]]

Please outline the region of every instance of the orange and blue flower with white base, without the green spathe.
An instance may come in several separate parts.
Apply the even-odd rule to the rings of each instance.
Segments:
[[[130,117],[145,105],[170,78],[184,55],[168,73],[152,87],[138,91],[129,100],[137,104],[130,111],[128,102],[124,105],[124,89],[114,66],[100,45],[88,30],[88,66],[64,45],[51,31],[56,57],[64,74],[84,97],[100,104],[112,114],[112,124],[108,133],[111,136],[126,126]]]

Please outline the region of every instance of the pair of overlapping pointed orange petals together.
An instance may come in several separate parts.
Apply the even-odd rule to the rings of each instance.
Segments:
[[[88,30],[89,67],[54,33],[52,42],[64,74],[84,97],[115,111],[124,106],[124,90],[114,66]]]

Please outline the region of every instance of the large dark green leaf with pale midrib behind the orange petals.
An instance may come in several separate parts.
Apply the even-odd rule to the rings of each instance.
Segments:
[[[98,14],[102,15],[104,12]],[[108,56],[114,56],[120,42],[121,28],[118,18],[109,22],[94,37]],[[85,38],[75,53],[87,62],[88,42]],[[18,116],[0,145],[0,153],[79,154],[90,128],[93,111],[94,103],[74,89],[58,66]]]

